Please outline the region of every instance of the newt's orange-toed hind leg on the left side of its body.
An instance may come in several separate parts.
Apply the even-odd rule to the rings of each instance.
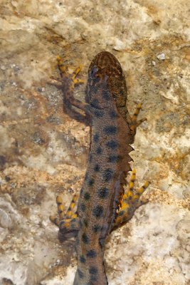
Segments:
[[[51,222],[56,224],[59,228],[59,239],[65,240],[70,237],[75,237],[79,229],[78,215],[73,211],[75,208],[77,195],[73,195],[73,199],[70,202],[68,210],[65,212],[63,207],[63,201],[60,196],[56,198],[58,204],[58,217],[50,216]]]

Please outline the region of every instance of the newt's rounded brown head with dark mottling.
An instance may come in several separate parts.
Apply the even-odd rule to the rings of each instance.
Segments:
[[[102,51],[90,63],[88,69],[88,97],[95,108],[108,108],[115,102],[117,108],[125,108],[127,86],[117,58],[108,51]]]

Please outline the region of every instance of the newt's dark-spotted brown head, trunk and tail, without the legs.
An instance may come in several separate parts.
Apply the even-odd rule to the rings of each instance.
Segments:
[[[123,194],[130,143],[127,123],[127,86],[119,61],[98,53],[88,71],[91,142],[88,167],[78,201],[78,271],[74,285],[106,285],[103,244],[115,222]]]

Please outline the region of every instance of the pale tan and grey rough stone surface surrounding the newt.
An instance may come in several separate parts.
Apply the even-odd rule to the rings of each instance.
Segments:
[[[0,284],[73,284],[72,240],[48,216],[80,191],[89,128],[63,113],[56,56],[71,70],[106,50],[125,71],[128,106],[147,117],[132,153],[149,204],[107,239],[109,285],[190,284],[189,0],[0,2]],[[84,98],[84,86],[76,88]]]

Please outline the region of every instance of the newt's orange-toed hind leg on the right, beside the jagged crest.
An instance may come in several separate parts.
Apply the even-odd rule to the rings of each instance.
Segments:
[[[124,222],[129,221],[132,218],[135,210],[140,207],[142,204],[146,204],[148,199],[139,199],[142,193],[149,186],[149,182],[145,182],[142,187],[134,192],[134,180],[136,177],[136,170],[132,170],[132,177],[130,180],[130,185],[127,192],[123,195],[120,202],[120,209],[117,214],[117,218],[115,220],[115,224],[113,228],[120,227],[120,225]]]

